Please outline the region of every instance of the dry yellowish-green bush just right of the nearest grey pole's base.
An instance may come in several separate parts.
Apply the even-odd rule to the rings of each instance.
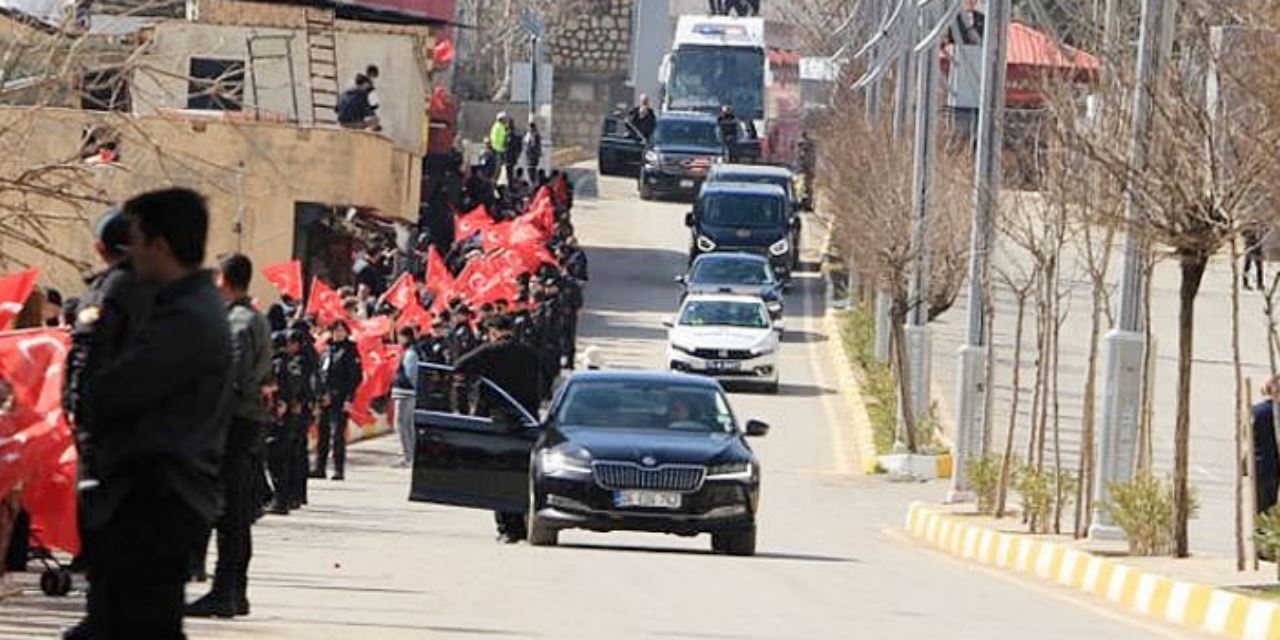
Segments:
[[[1107,494],[1102,509],[1129,539],[1129,553],[1162,556],[1172,550],[1176,525],[1171,483],[1143,470],[1132,483],[1107,485]],[[1199,504],[1194,492],[1189,498],[1194,517]]]

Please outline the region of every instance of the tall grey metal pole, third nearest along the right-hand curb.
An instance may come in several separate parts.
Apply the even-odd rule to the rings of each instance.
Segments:
[[[913,1],[913,0],[908,0]],[[932,23],[933,12],[922,14],[925,24]],[[914,47],[914,42],[911,44]],[[911,271],[910,303],[904,337],[906,340],[908,389],[911,415],[916,420],[929,411],[929,369],[932,349],[929,344],[929,198],[933,187],[934,132],[938,124],[938,42],[932,40],[916,58],[916,108],[915,108],[915,160],[911,172],[911,212],[915,220],[911,246],[915,264]],[[904,421],[905,422],[905,421]],[[901,425],[905,429],[905,424]],[[899,444],[911,442],[899,430]]]

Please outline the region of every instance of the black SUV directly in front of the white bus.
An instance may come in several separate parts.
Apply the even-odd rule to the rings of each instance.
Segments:
[[[716,118],[699,113],[660,113],[640,168],[640,198],[692,200],[712,165],[723,159],[724,143]]]

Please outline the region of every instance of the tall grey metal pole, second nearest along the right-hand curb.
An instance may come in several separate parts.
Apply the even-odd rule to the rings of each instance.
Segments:
[[[978,151],[974,159],[973,230],[969,239],[969,317],[965,344],[960,347],[956,375],[956,438],[951,490],[947,502],[974,499],[965,477],[970,456],[980,454],[987,435],[987,274],[995,246],[996,212],[1000,207],[1001,163],[1005,120],[1005,70],[1007,68],[1009,0],[987,0],[982,36],[982,97],[978,106]],[[959,47],[956,47],[959,49]]]

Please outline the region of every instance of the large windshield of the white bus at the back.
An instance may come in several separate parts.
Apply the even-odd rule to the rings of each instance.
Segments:
[[[739,118],[764,118],[764,51],[684,46],[672,56],[669,91],[672,110],[732,105]]]

